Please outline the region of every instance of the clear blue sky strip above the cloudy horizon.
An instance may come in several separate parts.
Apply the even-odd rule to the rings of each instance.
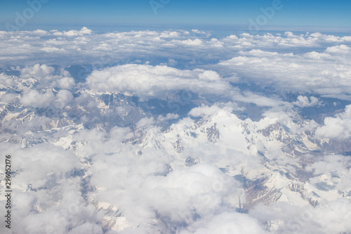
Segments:
[[[40,0],[29,0],[29,2]],[[44,0],[41,0],[44,1]],[[261,9],[272,8],[274,1],[208,1],[208,0],[45,0],[41,9],[20,27],[30,25],[47,29],[55,25],[241,25],[262,21],[262,27],[350,27],[350,1],[282,0],[272,17],[262,18]],[[5,24],[15,25],[19,15],[30,14],[27,1],[0,1],[0,30]],[[157,6],[159,6],[157,8]],[[27,9],[27,11],[26,11]],[[155,11],[157,14],[155,14]],[[16,15],[17,13],[17,15]],[[270,12],[271,13],[271,12]],[[261,18],[260,18],[261,15]],[[252,20],[252,21],[250,21]]]

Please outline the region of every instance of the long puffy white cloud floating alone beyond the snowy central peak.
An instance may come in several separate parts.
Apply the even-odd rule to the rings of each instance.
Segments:
[[[95,71],[86,79],[91,89],[128,91],[141,98],[161,97],[167,91],[222,94],[230,89],[219,75],[205,70],[178,70],[167,66],[119,65]]]

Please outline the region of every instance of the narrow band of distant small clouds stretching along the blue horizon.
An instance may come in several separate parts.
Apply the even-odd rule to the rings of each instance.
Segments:
[[[158,58],[163,58],[164,61],[171,58],[177,60],[178,64],[189,63],[193,59],[212,64],[213,60],[229,60],[233,56],[238,56],[239,51],[251,49],[281,52],[298,48],[300,51],[310,53],[333,46],[350,47],[351,42],[350,37],[308,33],[295,35],[291,32],[283,36],[244,33],[225,38],[210,38],[209,34],[200,30],[192,32],[145,30],[94,34],[86,27],[68,32],[58,30],[1,32],[6,45],[1,51],[0,60],[4,65],[20,66],[36,63],[62,66],[91,63],[105,67],[118,62],[131,63],[135,58],[142,63],[151,61],[152,64],[159,60]]]

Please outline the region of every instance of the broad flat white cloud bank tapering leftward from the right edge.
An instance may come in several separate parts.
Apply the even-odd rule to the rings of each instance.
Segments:
[[[325,53],[328,52],[327,49]],[[227,72],[236,72],[241,79],[274,86],[277,90],[310,92],[351,100],[350,52],[345,52],[343,56],[262,50],[241,51],[240,54],[221,61],[219,65],[223,65]]]

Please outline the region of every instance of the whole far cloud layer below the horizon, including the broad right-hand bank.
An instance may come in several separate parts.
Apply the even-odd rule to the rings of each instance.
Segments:
[[[2,64],[20,65],[21,72],[42,79],[49,79],[53,71],[47,65],[35,65],[37,63],[91,66],[81,68],[80,75],[117,64],[151,63],[188,70],[206,67],[205,70],[223,74],[232,82],[251,80],[274,86],[278,91],[310,92],[350,100],[351,37],[347,36],[286,32],[216,38],[198,30],[95,34],[86,27],[79,31],[36,30],[1,32],[0,35],[2,41],[6,41],[0,44]],[[23,68],[25,65],[35,66],[29,71]],[[124,69],[126,71],[115,68],[114,72],[128,72]],[[161,68],[144,67],[140,72],[157,73]],[[67,77],[55,82],[60,89],[69,89],[72,85],[72,79]]]

